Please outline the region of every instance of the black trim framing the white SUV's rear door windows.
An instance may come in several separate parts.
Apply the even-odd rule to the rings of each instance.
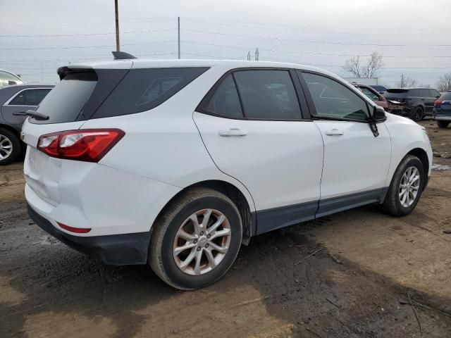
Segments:
[[[300,118],[296,119],[280,119],[280,120],[268,120],[266,118],[247,118],[246,111],[244,108],[244,105],[242,104],[242,98],[240,94],[240,89],[237,86],[237,82],[235,80],[235,76],[233,75],[236,72],[240,71],[246,71],[246,70],[285,70],[288,71],[288,74],[290,75],[293,87],[295,89],[295,93],[297,96],[297,102],[299,104],[299,109],[301,111]],[[228,70],[226,73],[224,73],[219,79],[215,82],[215,84],[209,89],[209,91],[205,94],[205,96],[202,98],[200,103],[197,105],[196,109],[194,111],[197,111],[198,113],[202,113],[205,115],[211,115],[216,116],[218,118],[228,118],[230,120],[248,120],[248,121],[288,121],[288,122],[297,122],[297,121],[312,121],[310,118],[309,113],[309,107],[307,106],[307,101],[304,96],[304,92],[300,92],[299,90],[302,90],[302,87],[300,87],[300,83],[298,82],[299,79],[297,79],[297,76],[295,77],[295,70],[296,68],[285,68],[285,67],[242,67],[242,68],[233,68]],[[221,85],[221,83],[226,80],[226,77],[228,75],[232,75],[233,82],[235,83],[235,88],[237,89],[238,98],[240,99],[240,105],[241,105],[241,111],[243,114],[242,118],[235,118],[230,116],[224,116],[221,114],[213,113],[211,111],[206,110],[203,108],[206,106],[206,104],[210,101],[211,97],[214,95],[218,87]]]

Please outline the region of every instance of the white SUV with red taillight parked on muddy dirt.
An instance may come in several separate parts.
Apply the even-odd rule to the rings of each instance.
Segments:
[[[340,77],[289,63],[116,60],[60,68],[23,125],[30,216],[113,265],[196,289],[257,234],[416,206],[423,127]]]

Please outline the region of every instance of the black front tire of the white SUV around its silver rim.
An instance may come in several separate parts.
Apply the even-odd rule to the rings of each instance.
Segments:
[[[405,182],[403,177],[404,173],[406,173],[407,170],[409,170],[410,168],[415,168],[419,176],[418,179],[419,182],[417,183],[418,185],[414,186],[414,184],[416,184],[416,181],[409,185],[409,187],[413,187],[412,194],[413,190],[416,188],[416,196],[414,196],[414,198],[412,199],[412,195],[409,194],[409,192],[407,191],[409,199],[412,200],[412,203],[411,204],[407,203],[406,199],[404,200],[404,204],[402,204],[401,184]],[[385,196],[385,200],[383,201],[383,208],[385,209],[385,211],[393,216],[404,216],[411,213],[412,210],[414,210],[416,204],[418,204],[418,201],[421,197],[421,193],[423,192],[424,189],[425,182],[426,177],[424,174],[423,163],[421,163],[419,158],[416,156],[412,155],[405,156],[402,159],[400,165],[398,165],[395,174],[393,175],[392,182],[390,183],[387,195]]]

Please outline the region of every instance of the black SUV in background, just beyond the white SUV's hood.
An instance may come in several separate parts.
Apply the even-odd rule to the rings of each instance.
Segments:
[[[440,93],[432,88],[389,88],[383,96],[404,104],[402,116],[420,121],[424,116],[432,115],[434,101],[440,97]]]

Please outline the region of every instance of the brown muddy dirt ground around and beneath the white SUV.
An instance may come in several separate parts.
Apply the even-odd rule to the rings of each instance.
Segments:
[[[450,151],[451,128],[422,124]],[[411,215],[365,206],[255,237],[195,292],[49,237],[22,163],[1,167],[0,337],[451,337],[451,159],[434,161]]]

